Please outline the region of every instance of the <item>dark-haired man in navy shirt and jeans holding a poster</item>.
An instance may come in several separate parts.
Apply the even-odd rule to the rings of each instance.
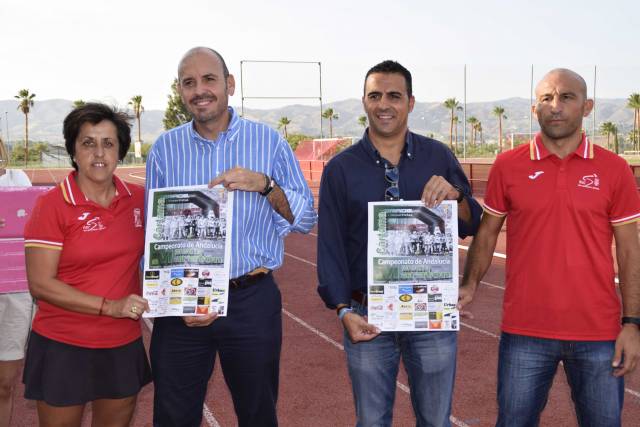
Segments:
[[[453,153],[408,130],[415,99],[406,68],[394,61],[371,68],[362,103],[369,127],[322,175],[318,292],[344,326],[358,426],[391,425],[400,356],[417,425],[449,426],[456,333],[381,333],[367,322],[367,203],[457,200],[460,237],[476,232],[482,209]]]

